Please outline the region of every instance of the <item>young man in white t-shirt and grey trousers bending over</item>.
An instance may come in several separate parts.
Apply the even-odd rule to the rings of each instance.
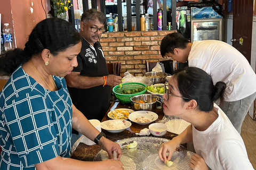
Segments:
[[[241,133],[244,118],[256,97],[256,74],[237,49],[218,40],[189,41],[180,33],[170,33],[161,43],[161,55],[180,63],[188,61],[210,74],[215,84],[227,84],[220,108]]]

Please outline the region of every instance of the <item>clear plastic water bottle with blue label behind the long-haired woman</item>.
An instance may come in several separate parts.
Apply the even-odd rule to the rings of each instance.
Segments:
[[[9,27],[9,23],[4,24],[3,35],[4,35],[4,48],[5,51],[14,49],[12,39],[12,29]]]

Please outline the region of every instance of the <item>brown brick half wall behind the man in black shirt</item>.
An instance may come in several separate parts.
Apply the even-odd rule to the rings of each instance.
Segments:
[[[121,62],[121,77],[129,71],[141,75],[138,64],[146,72],[145,61],[170,60],[163,58],[160,53],[161,40],[171,31],[132,31],[106,32],[102,34],[100,43],[107,63]]]

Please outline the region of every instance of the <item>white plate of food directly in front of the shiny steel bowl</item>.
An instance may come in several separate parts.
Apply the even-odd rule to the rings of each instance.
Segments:
[[[143,116],[143,118],[147,118],[148,120],[150,120],[150,122],[146,122],[146,123],[137,122],[135,120],[135,118],[138,118],[141,116]],[[157,120],[157,118],[158,118],[158,115],[155,112],[150,112],[150,111],[136,111],[129,115],[130,121],[138,123],[138,124],[149,124],[149,123]]]

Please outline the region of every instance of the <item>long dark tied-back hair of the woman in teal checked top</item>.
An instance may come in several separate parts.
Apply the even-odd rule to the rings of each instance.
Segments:
[[[57,55],[80,41],[79,33],[69,22],[59,18],[45,19],[32,30],[24,50],[17,48],[0,56],[0,71],[9,75],[31,56],[42,53],[43,49]]]

